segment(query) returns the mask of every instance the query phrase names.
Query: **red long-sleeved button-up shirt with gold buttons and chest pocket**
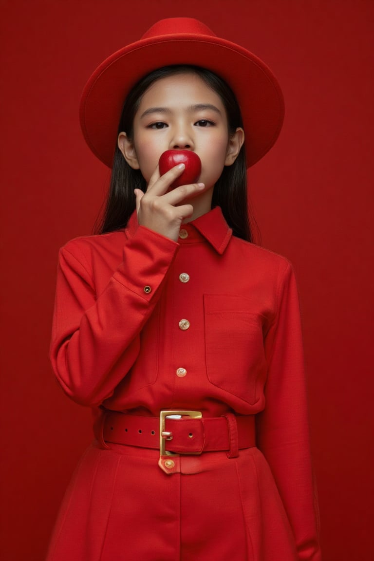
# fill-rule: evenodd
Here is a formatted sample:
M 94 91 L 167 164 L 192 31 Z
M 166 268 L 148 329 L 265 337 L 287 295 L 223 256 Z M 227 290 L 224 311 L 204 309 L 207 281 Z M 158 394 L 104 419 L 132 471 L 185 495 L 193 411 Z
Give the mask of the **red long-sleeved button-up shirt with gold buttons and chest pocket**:
M 292 266 L 232 236 L 219 208 L 182 226 L 178 243 L 136 214 L 126 229 L 67 243 L 51 356 L 64 391 L 87 406 L 256 413 L 297 544 L 316 544 Z

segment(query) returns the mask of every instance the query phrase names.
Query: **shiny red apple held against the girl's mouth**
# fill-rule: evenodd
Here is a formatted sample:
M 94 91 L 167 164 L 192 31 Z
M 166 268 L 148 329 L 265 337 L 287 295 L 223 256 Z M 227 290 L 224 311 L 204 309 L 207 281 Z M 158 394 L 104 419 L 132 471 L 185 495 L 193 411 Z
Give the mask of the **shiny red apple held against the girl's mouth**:
M 195 152 L 191 150 L 167 150 L 160 155 L 159 170 L 160 174 L 168 172 L 178 164 L 184 164 L 183 173 L 177 177 L 176 181 L 170 185 L 169 189 L 179 187 L 179 185 L 189 185 L 196 183 L 201 173 L 201 160 Z

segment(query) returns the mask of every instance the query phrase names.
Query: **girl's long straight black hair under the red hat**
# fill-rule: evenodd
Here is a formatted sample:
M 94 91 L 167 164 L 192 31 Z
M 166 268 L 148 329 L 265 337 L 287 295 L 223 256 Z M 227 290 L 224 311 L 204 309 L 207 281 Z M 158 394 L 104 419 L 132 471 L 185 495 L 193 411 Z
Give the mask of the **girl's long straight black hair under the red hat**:
M 137 82 L 124 102 L 118 134 L 123 131 L 130 140 L 133 139 L 133 121 L 136 111 L 142 96 L 153 82 L 167 76 L 188 72 L 199 76 L 209 88 L 220 96 L 227 113 L 229 135 L 233 135 L 237 127 L 243 127 L 236 96 L 224 80 L 205 68 L 176 65 L 158 68 Z M 132 169 L 128 165 L 116 145 L 109 192 L 103 213 L 95 225 L 96 233 L 112 232 L 127 226 L 128 219 L 136 206 L 135 188 L 146 191 L 144 177 L 139 169 Z M 224 167 L 214 186 L 211 206 L 212 208 L 221 207 L 228 225 L 233 229 L 234 236 L 252 241 L 250 209 L 247 200 L 246 156 L 243 146 L 236 161 L 232 165 Z

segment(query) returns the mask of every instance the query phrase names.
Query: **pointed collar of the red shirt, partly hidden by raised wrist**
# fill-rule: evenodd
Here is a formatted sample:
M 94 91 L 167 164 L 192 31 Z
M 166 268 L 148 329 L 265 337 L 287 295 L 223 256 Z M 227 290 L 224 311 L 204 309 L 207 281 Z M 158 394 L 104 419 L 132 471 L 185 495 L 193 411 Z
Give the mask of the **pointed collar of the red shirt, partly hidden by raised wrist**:
M 134 211 L 127 224 L 127 231 L 131 237 L 135 234 L 137 227 L 137 215 L 136 211 Z M 216 206 L 206 214 L 202 214 L 200 217 L 192 220 L 192 222 L 183 224 L 182 229 L 185 229 L 189 235 L 187 238 L 179 240 L 179 243 L 196 242 L 199 237 L 198 233 L 200 233 L 219 255 L 222 255 L 225 251 L 233 233 L 224 219 L 219 206 Z

